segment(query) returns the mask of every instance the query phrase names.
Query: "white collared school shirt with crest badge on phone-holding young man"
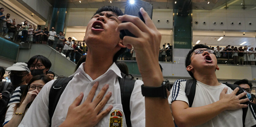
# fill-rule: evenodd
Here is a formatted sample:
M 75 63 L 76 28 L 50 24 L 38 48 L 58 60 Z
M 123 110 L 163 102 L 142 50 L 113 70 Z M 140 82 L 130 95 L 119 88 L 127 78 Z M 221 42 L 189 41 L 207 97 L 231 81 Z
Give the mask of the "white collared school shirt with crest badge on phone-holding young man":
M 84 72 L 84 64 L 85 62 L 82 63 L 77 71 L 72 75 L 74 76 L 73 79 L 67 84 L 65 90 L 59 98 L 59 102 L 52 117 L 52 127 L 58 127 L 62 122 L 64 122 L 67 116 L 68 107 L 73 103 L 81 91 L 84 93 L 81 104 L 86 100 L 92 86 L 96 81 L 99 82 L 99 85 L 95 92 L 94 98 L 105 84 L 109 84 L 109 88 L 105 95 L 108 93 L 108 91 L 112 92 L 112 96 L 109 98 L 109 101 L 105 104 L 101 111 L 107 109 L 109 105 L 113 105 L 113 108 L 109 114 L 103 117 L 97 123 L 97 125 L 95 125 L 95 127 L 109 127 L 111 120 L 110 117 L 112 117 L 111 115 L 113 112 L 114 115 L 120 115 L 120 113 L 122 114 L 122 127 L 126 127 L 127 125 L 125 122 L 125 116 L 123 115 L 120 86 L 118 82 L 118 77 L 122 76 L 117 65 L 113 63 L 107 72 L 99 76 L 97 79 L 92 80 L 92 78 Z M 36 96 L 35 100 L 29 107 L 29 110 L 27 111 L 26 115 L 21 121 L 21 124 L 18 127 L 49 126 L 48 97 L 53 82 L 54 80 L 44 85 L 43 89 Z M 145 127 L 145 100 L 141 94 L 142 84 L 143 82 L 141 80 L 136 80 L 130 99 L 132 127 Z

